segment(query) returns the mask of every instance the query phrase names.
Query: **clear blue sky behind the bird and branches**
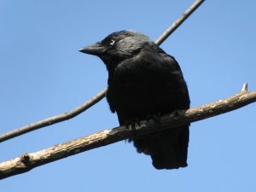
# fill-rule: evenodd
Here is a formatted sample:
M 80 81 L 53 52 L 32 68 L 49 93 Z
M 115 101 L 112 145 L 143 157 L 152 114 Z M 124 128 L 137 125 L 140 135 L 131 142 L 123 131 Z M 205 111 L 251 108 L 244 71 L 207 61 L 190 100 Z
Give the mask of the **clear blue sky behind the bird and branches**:
M 194 1 L 0 0 L 0 133 L 67 112 L 107 85 L 78 50 L 110 32 L 155 40 Z M 161 45 L 175 56 L 191 107 L 256 90 L 256 1 L 206 1 Z M 189 166 L 158 171 L 119 142 L 0 181 L 0 191 L 256 191 L 256 103 L 190 126 Z M 68 121 L 0 143 L 0 161 L 118 125 L 105 99 Z

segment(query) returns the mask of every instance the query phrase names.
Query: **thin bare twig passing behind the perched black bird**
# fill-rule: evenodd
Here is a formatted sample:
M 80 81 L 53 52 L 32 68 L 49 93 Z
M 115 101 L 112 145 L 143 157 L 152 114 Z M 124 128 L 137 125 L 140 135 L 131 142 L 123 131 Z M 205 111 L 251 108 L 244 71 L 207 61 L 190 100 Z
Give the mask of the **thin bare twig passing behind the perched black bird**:
M 160 38 L 158 38 L 155 42 L 155 44 L 162 44 L 166 38 L 168 38 L 172 32 L 174 32 L 178 26 L 180 26 L 184 20 L 186 20 L 189 15 L 191 15 L 195 9 L 197 9 L 201 3 L 203 3 L 204 0 L 196 0 L 195 3 L 193 3 L 188 10 L 186 10 L 183 15 L 181 15 L 173 24 L 172 26 L 170 26 L 166 32 L 164 32 Z M 30 125 L 25 125 L 25 126 L 21 126 L 20 128 L 17 128 L 13 131 L 9 131 L 7 133 L 4 133 L 3 135 L 0 135 L 0 143 L 13 138 L 13 137 L 18 137 L 22 134 L 25 134 L 26 132 L 29 131 L 34 131 L 37 130 L 39 128 L 45 127 L 45 126 L 49 126 L 49 125 L 53 125 L 55 123 L 59 123 L 61 121 L 67 120 L 67 119 L 71 119 L 75 116 L 77 116 L 79 113 L 83 113 L 86 109 L 90 108 L 91 106 L 95 105 L 97 102 L 101 101 L 102 98 L 105 96 L 107 88 L 105 88 L 104 90 L 102 90 L 100 93 L 98 93 L 96 96 L 93 96 L 89 101 L 84 102 L 81 106 L 79 106 L 78 108 L 73 109 L 70 112 L 67 113 L 61 113 L 59 115 L 55 115 L 53 117 L 49 117 L 46 119 L 42 119 L 39 120 L 38 122 L 32 123 Z

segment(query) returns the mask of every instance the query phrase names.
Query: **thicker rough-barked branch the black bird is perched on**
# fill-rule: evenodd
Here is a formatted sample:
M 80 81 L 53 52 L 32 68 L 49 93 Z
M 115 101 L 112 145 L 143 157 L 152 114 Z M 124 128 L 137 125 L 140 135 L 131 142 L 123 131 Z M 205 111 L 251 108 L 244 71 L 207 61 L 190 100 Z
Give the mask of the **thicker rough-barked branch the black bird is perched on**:
M 207 119 L 221 113 L 242 108 L 252 102 L 256 102 L 256 91 L 247 91 L 247 84 L 244 84 L 242 90 L 234 96 L 197 108 L 190 108 L 189 110 L 177 110 L 174 113 L 162 116 L 160 119 L 161 123 L 157 123 L 153 119 L 143 121 L 140 125 L 136 125 L 136 135 L 141 136 L 150 132 L 171 129 Z M 119 126 L 111 130 L 96 132 L 88 137 L 80 137 L 71 142 L 57 144 L 36 153 L 23 154 L 13 160 L 0 163 L 0 179 L 28 172 L 34 167 L 42 166 L 55 160 L 61 160 L 67 156 L 79 154 L 92 148 L 116 143 L 130 137 L 134 137 L 133 130 L 128 130 L 125 126 Z

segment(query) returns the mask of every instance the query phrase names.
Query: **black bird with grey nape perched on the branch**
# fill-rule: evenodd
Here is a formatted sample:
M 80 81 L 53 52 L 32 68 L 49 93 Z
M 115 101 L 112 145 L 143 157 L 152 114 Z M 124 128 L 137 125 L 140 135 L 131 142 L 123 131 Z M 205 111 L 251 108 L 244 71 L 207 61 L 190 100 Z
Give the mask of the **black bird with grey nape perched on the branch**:
M 189 108 L 189 91 L 177 61 L 142 33 L 113 32 L 80 51 L 105 63 L 106 96 L 119 125 Z M 151 155 L 156 169 L 187 166 L 189 125 L 132 140 L 138 153 Z

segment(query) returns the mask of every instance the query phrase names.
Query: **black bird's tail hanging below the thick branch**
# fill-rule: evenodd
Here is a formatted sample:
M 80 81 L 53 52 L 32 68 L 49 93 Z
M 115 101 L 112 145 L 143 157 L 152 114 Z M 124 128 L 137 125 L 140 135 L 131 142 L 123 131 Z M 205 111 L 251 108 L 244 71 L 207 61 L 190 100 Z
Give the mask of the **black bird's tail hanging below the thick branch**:
M 150 154 L 156 169 L 188 166 L 189 125 L 134 139 L 139 153 Z

